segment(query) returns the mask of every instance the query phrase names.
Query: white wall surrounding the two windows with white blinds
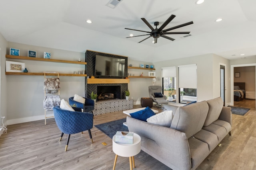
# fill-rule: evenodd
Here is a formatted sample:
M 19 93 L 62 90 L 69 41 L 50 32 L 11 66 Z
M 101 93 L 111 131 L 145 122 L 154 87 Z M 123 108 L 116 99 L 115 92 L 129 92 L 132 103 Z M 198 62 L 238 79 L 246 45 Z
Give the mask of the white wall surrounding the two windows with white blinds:
M 156 68 L 156 84 L 161 86 L 161 68 L 168 66 L 180 66 L 186 64 L 197 65 L 197 101 L 209 100 L 220 96 L 219 79 L 220 70 L 219 62 L 229 65 L 228 60 L 223 57 L 207 54 L 194 57 L 187 57 L 182 59 L 174 59 L 168 61 L 160 61 L 154 63 Z M 176 72 L 178 77 L 178 69 Z M 229 72 L 227 73 L 229 77 Z M 177 78 L 178 82 L 178 78 Z M 218 84 L 216 83 L 218 82 Z M 178 87 L 178 86 L 177 86 Z M 229 88 L 229 87 L 227 87 Z M 177 96 L 178 98 L 178 96 Z M 230 99 L 228 99 L 230 101 Z

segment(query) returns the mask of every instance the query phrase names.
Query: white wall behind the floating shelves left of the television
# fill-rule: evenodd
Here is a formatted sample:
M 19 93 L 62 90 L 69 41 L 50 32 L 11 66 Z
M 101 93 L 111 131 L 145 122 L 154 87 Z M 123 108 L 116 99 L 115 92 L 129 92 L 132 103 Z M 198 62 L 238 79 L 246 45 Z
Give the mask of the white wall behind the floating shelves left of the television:
M 43 58 L 43 53 L 46 51 L 52 53 L 52 59 L 77 61 L 78 58 L 81 58 L 82 61 L 85 61 L 84 53 L 9 42 L 7 54 L 9 54 L 10 47 L 20 49 L 21 56 L 27 56 L 28 50 L 32 50 L 37 52 L 38 58 Z M 2 57 L 5 59 L 5 55 Z M 60 73 L 72 74 L 74 71 L 85 70 L 85 66 L 80 64 L 16 59 L 7 60 L 26 63 L 26 68 L 29 72 L 59 71 Z M 3 64 L 1 64 L 1 66 L 3 66 Z M 60 98 L 68 101 L 68 98 L 74 96 L 74 94 L 84 96 L 84 80 L 84 77 L 60 76 Z M 8 108 L 6 116 L 8 119 L 7 123 L 15 124 L 44 119 L 44 76 L 6 75 L 6 81 L 6 92 L 8 94 L 6 98 L 6 106 Z M 48 111 L 47 113 L 53 114 L 52 111 Z

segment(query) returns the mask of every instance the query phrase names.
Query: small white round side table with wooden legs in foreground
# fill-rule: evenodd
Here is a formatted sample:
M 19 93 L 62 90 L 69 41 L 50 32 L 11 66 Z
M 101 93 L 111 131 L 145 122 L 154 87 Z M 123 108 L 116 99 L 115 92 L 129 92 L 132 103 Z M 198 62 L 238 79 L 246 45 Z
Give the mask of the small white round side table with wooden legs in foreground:
M 129 157 L 130 170 L 132 170 L 132 164 L 133 168 L 135 168 L 134 156 L 140 153 L 140 136 L 136 133 L 133 134 L 133 144 L 116 143 L 115 139 L 116 135 L 114 135 L 112 138 L 112 149 L 113 152 L 116 154 L 113 170 L 116 167 L 116 160 L 118 155 L 123 157 Z

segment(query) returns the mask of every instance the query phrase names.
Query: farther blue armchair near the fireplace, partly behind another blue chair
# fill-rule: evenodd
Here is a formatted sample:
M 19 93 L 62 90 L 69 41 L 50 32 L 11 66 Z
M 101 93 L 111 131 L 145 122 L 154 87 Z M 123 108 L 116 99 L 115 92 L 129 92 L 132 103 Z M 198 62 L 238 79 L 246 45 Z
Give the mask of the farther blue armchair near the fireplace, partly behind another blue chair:
M 85 98 L 85 103 L 74 101 L 74 97 L 69 98 L 70 106 L 79 107 L 84 109 L 84 112 L 92 112 L 94 110 L 94 100 Z

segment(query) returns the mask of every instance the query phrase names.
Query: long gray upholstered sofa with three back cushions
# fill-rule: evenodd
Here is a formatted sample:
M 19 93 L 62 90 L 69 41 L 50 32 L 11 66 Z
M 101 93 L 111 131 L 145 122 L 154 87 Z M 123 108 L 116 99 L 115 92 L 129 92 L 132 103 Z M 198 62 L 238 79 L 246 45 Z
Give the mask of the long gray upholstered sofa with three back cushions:
M 229 133 L 231 109 L 221 98 L 178 107 L 170 127 L 126 118 L 141 149 L 173 170 L 194 170 Z

